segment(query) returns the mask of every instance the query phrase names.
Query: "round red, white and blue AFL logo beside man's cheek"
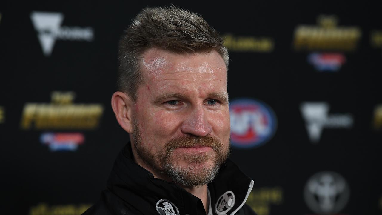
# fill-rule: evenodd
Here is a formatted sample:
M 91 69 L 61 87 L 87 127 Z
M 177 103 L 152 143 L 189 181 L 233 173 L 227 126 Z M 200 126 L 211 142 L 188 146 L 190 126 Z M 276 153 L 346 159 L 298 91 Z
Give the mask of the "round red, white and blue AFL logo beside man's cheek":
M 231 143 L 234 147 L 258 147 L 273 137 L 276 116 L 266 104 L 254 99 L 230 103 Z

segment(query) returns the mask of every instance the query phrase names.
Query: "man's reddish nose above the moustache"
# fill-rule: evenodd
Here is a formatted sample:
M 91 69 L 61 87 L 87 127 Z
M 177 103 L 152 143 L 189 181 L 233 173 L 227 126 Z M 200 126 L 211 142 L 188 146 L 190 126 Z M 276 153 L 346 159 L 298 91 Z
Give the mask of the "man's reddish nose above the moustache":
M 190 110 L 189 116 L 181 126 L 181 130 L 185 134 L 192 134 L 204 137 L 212 132 L 212 126 L 207 121 L 205 110 L 202 106 L 195 107 Z

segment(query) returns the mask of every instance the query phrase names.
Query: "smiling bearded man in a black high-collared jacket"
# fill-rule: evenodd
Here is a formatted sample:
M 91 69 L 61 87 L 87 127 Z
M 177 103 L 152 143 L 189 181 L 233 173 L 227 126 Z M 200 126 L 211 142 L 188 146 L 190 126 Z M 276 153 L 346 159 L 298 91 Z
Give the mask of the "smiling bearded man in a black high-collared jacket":
M 84 214 L 255 214 L 253 181 L 232 161 L 228 52 L 181 8 L 146 8 L 119 46 L 112 108 L 131 143 Z M 219 170 L 220 169 L 220 170 Z

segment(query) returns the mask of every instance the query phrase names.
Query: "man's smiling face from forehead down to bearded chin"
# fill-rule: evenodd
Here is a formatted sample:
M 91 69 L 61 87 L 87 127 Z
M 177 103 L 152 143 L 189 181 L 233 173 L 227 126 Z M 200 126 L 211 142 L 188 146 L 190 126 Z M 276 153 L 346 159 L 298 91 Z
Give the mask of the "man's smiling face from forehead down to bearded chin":
M 207 184 L 229 151 L 222 57 L 149 49 L 141 64 L 144 83 L 132 111 L 137 162 L 183 186 Z

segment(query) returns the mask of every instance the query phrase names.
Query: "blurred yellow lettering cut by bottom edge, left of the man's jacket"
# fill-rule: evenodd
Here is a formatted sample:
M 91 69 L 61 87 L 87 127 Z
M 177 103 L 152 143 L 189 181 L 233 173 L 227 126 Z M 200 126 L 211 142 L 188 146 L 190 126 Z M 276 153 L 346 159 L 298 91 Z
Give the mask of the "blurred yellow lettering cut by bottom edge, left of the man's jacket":
M 66 204 L 66 205 L 49 205 L 47 203 L 39 203 L 29 209 L 29 215 L 78 215 L 84 213 L 91 204 Z

